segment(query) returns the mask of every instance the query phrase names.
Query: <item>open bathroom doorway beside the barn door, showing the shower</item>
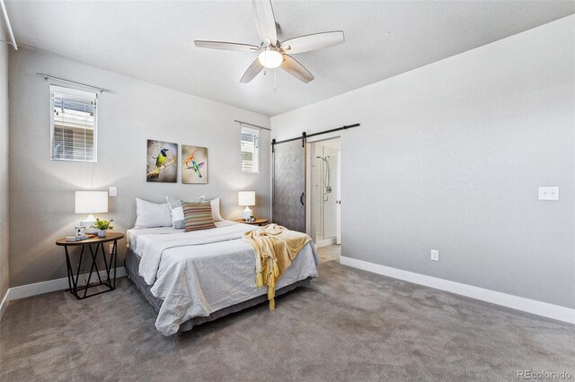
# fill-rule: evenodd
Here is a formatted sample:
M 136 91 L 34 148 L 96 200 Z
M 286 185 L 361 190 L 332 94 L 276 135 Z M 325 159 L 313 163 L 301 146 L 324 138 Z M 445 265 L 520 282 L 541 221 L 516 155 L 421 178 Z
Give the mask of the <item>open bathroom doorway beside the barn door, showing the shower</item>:
M 341 139 L 308 144 L 308 233 L 324 255 L 339 260 L 341 244 Z M 328 247 L 329 246 L 329 247 Z

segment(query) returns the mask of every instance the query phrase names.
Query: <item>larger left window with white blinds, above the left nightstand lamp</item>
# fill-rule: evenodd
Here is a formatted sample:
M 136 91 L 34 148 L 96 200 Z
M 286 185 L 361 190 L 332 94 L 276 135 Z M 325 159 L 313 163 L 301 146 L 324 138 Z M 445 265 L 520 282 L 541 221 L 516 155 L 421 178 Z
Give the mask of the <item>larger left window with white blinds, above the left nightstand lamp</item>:
M 98 96 L 50 85 L 50 158 L 52 161 L 96 161 Z

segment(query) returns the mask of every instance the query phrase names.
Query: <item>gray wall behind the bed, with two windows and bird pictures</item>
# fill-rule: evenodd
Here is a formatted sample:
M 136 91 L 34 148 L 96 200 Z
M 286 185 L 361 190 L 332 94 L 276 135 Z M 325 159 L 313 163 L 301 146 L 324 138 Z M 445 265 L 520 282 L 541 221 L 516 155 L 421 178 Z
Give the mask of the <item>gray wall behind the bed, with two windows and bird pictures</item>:
M 115 230 L 136 219 L 136 196 L 220 196 L 225 218 L 239 218 L 238 190 L 255 190 L 254 213 L 270 216 L 270 153 L 261 151 L 260 174 L 240 171 L 240 129 L 234 119 L 270 126 L 270 118 L 57 56 L 21 49 L 10 54 L 10 285 L 66 276 L 54 240 L 71 235 L 84 218 L 74 213 L 75 190 L 118 187 L 111 198 Z M 36 72 L 111 89 L 100 97 L 98 163 L 50 161 L 49 82 Z M 56 82 L 55 82 L 56 83 Z M 208 185 L 146 183 L 146 139 L 208 147 Z M 262 130 L 261 146 L 270 133 Z M 180 176 L 178 177 L 180 181 Z M 123 246 L 122 246 L 123 259 Z

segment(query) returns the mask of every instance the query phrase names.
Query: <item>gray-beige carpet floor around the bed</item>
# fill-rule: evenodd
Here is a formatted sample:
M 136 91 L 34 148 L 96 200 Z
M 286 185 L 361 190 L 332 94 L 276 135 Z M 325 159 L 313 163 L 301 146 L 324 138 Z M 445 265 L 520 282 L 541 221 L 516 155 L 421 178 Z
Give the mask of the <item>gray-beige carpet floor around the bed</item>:
M 163 337 L 128 280 L 75 300 L 12 301 L 0 324 L 0 380 L 575 379 L 575 326 L 358 271 L 326 248 L 320 278 L 267 304 Z

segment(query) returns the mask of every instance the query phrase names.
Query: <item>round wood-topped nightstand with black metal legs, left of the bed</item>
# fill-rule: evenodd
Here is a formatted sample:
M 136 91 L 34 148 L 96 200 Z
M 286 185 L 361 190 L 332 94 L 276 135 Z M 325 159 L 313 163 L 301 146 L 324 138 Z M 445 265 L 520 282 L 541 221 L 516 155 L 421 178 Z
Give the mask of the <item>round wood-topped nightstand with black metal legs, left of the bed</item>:
M 113 291 L 116 289 L 116 265 L 118 263 L 118 240 L 123 239 L 124 235 L 119 232 L 108 232 L 105 238 L 93 238 L 93 239 L 84 239 L 80 241 L 66 241 L 66 238 L 57 239 L 56 245 L 60 247 L 64 247 L 66 252 L 66 267 L 68 270 L 68 286 L 70 288 L 70 293 L 75 295 L 75 298 L 78 300 L 83 300 L 88 297 L 95 296 L 97 294 L 105 293 L 107 291 Z M 113 245 L 111 247 L 111 254 L 110 258 L 106 256 L 106 250 L 104 249 L 104 243 L 111 243 Z M 93 248 L 95 246 L 95 250 Z M 68 253 L 68 247 L 81 247 L 80 250 L 80 260 L 78 261 L 78 266 L 76 269 L 76 273 L 74 274 L 74 268 L 72 266 L 71 256 Z M 90 257 L 92 257 L 92 265 L 90 266 L 90 273 L 88 274 L 88 281 L 85 285 L 78 285 L 78 279 L 80 278 L 80 271 L 82 270 L 82 261 L 84 260 L 84 249 L 88 247 L 90 252 Z M 100 274 L 100 270 L 98 269 L 98 265 L 96 264 L 98 260 L 98 253 L 102 253 L 102 260 L 104 263 L 104 269 L 102 272 L 105 272 L 105 279 L 102 280 L 102 275 Z M 87 257 L 87 255 L 86 255 Z M 89 257 L 88 257 L 89 260 Z M 112 266 L 113 265 L 113 266 Z M 111 273 L 113 274 L 113 279 L 111 278 Z M 90 280 L 92 279 L 92 273 L 95 274 L 95 280 L 98 283 L 90 285 Z M 97 289 L 100 285 L 103 285 L 105 288 L 104 291 L 97 291 L 92 294 L 87 294 L 89 289 Z M 84 293 L 79 293 L 79 291 L 83 291 Z M 81 296 L 81 294 L 83 294 Z

